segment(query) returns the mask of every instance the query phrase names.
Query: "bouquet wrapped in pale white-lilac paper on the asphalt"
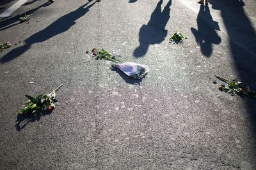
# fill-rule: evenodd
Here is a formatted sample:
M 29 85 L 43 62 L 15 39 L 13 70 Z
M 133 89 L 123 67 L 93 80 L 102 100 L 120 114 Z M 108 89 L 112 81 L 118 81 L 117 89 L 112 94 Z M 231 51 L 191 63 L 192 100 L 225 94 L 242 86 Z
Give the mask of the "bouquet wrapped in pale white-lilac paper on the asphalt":
M 112 67 L 116 67 L 123 71 L 127 76 L 131 76 L 136 80 L 145 77 L 148 73 L 148 66 L 142 64 L 136 64 L 133 62 L 125 62 L 123 64 L 112 64 Z

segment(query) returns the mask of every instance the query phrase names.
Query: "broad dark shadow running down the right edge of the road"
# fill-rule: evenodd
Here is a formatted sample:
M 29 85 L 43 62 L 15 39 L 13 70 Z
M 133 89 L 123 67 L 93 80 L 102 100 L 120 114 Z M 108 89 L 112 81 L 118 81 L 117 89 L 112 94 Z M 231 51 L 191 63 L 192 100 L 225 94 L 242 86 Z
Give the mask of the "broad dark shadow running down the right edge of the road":
M 221 17 L 227 29 L 230 53 L 239 73 L 237 80 L 244 85 L 256 89 L 256 34 L 253 26 L 244 13 L 242 0 L 209 1 L 212 8 L 221 11 Z M 249 4 L 250 5 L 250 4 Z M 256 140 L 256 100 L 244 97 L 248 106 L 248 114 L 252 118 L 254 138 Z

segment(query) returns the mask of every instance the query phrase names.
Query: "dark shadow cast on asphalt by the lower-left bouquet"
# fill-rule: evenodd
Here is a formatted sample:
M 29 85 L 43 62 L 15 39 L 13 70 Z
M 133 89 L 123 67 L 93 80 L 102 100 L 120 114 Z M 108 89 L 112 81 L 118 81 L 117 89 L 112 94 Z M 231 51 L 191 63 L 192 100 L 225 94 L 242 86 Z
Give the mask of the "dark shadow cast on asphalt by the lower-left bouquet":
M 33 113 L 18 113 L 17 115 L 17 124 L 15 125 L 17 131 L 21 131 L 21 129 L 25 128 L 29 122 L 38 122 L 41 117 L 45 115 L 50 115 L 52 111 L 44 111 L 42 113 L 33 114 Z M 22 125 L 21 125 L 22 124 Z

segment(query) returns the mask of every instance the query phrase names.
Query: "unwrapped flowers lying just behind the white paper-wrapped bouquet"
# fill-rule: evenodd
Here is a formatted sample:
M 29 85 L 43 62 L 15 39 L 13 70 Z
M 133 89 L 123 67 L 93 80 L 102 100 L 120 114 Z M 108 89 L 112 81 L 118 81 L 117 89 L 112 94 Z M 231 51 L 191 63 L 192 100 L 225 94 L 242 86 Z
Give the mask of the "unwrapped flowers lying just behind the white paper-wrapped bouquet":
M 109 53 L 104 49 L 97 50 L 96 48 L 92 48 L 92 53 L 93 56 L 96 57 L 96 59 L 106 59 L 106 60 L 111 60 L 113 62 L 120 62 L 120 60 L 116 59 L 116 54 L 115 53 Z M 117 55 L 120 57 L 120 55 Z

